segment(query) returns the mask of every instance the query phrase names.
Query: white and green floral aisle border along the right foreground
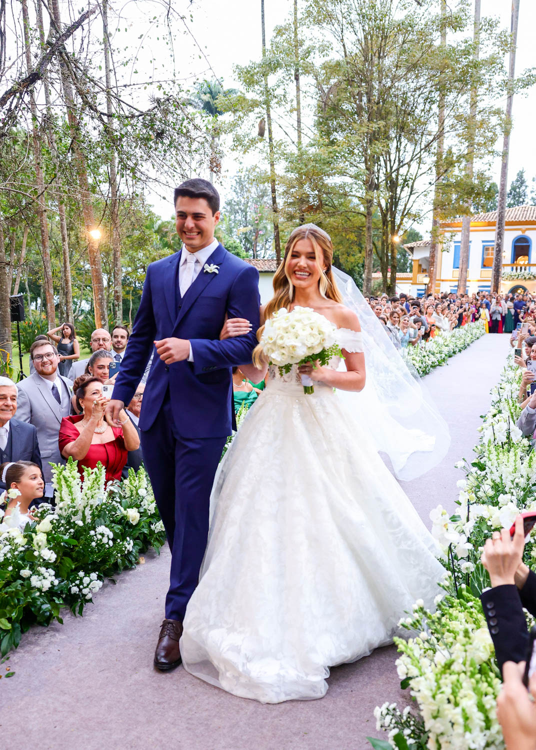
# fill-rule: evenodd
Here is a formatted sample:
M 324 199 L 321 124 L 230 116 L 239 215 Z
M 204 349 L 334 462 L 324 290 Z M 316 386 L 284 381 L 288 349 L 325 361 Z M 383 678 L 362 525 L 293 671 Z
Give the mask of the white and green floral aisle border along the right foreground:
M 431 613 L 424 602 L 400 621 L 409 640 L 395 638 L 401 687 L 409 688 L 418 714 L 396 703 L 376 707 L 376 728 L 388 740 L 370 740 L 373 748 L 403 750 L 484 750 L 504 748 L 496 718 L 501 684 L 499 668 L 479 595 L 490 585 L 480 562 L 484 541 L 495 529 L 511 526 L 521 511 L 536 510 L 536 452 L 516 427 L 521 371 L 511 355 L 492 389 L 492 404 L 479 428 L 472 461 L 456 466 L 459 511 L 449 517 L 439 505 L 430 513 L 433 535 L 448 573 L 445 594 Z M 525 547 L 524 562 L 536 567 L 536 530 Z

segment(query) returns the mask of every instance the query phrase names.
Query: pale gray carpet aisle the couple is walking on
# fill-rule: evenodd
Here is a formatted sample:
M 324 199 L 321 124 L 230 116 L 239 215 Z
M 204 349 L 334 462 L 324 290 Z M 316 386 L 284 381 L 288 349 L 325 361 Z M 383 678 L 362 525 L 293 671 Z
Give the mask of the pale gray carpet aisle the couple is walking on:
M 452 446 L 432 472 L 404 484 L 430 526 L 430 509 L 453 507 L 508 351 L 506 335 L 488 335 L 426 378 L 447 419 Z M 370 747 L 373 709 L 401 700 L 393 646 L 332 670 L 322 700 L 262 706 L 187 674 L 157 673 L 153 649 L 163 613 L 169 553 L 104 586 L 83 618 L 32 628 L 11 656 L 16 674 L 0 680 L 1 746 L 10 750 L 275 750 Z M 6 664 L 0 668 L 4 673 Z

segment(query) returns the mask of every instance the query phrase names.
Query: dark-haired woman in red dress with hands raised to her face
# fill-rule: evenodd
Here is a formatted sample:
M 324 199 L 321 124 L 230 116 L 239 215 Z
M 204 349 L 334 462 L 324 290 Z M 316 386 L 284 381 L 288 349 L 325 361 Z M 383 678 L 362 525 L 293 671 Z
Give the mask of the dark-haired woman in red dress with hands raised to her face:
M 82 414 L 61 420 L 58 437 L 61 455 L 78 461 L 82 478 L 84 466 L 94 469 L 100 461 L 106 469 L 106 481 L 120 479 L 127 453 L 139 448 L 136 428 L 124 410 L 119 415 L 121 427 L 110 427 L 104 422 L 109 399 L 103 397 L 103 386 L 97 377 L 77 377 L 73 392 Z

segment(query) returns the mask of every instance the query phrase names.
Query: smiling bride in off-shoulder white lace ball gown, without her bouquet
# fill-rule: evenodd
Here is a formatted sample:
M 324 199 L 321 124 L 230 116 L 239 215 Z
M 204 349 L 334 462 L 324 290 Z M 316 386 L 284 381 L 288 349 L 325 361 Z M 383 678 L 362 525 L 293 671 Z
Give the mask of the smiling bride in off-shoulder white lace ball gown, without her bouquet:
M 282 307 L 313 308 L 339 329 L 346 370 L 335 358 L 281 377 L 260 347 L 256 367 L 241 366 L 254 383 L 266 376 L 266 389 L 214 481 L 180 643 L 190 673 L 262 703 L 325 695 L 329 667 L 391 643 L 416 598 L 433 604 L 444 572 L 367 425 L 340 401 L 366 376 L 358 316 L 341 304 L 332 257 L 322 229 L 295 229 L 261 325 Z M 313 395 L 301 374 L 315 381 Z

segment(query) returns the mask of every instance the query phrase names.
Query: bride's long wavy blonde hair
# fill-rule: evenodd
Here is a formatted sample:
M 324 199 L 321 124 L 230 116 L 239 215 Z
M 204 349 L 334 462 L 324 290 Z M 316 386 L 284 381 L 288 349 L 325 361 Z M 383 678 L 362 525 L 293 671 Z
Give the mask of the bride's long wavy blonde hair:
M 343 298 L 337 289 L 331 264 L 333 263 L 333 245 L 331 237 L 324 229 L 316 224 L 302 224 L 292 231 L 285 245 L 285 255 L 277 271 L 274 274 L 274 296 L 265 307 L 265 321 L 271 318 L 281 308 L 288 308 L 294 300 L 294 284 L 289 273 L 289 262 L 296 242 L 308 239 L 315 251 L 316 266 L 320 272 L 319 292 L 325 299 L 333 299 L 334 302 L 342 302 Z M 324 267 L 325 266 L 325 270 Z M 257 341 L 261 340 L 265 327 L 261 326 L 257 331 Z M 258 344 L 253 350 L 253 365 L 262 367 L 262 347 Z

